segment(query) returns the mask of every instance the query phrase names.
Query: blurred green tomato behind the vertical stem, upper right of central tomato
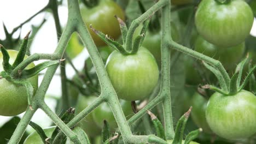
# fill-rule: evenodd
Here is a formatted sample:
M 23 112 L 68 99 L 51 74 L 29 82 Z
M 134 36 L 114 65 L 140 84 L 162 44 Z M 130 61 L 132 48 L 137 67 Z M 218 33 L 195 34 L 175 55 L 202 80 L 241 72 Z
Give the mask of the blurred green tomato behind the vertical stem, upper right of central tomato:
M 171 23 L 172 39 L 176 42 L 179 41 L 179 31 L 174 23 Z M 150 32 L 147 31 L 142 46 L 146 47 L 152 55 L 155 57 L 159 66 L 161 64 L 161 37 L 162 32 Z

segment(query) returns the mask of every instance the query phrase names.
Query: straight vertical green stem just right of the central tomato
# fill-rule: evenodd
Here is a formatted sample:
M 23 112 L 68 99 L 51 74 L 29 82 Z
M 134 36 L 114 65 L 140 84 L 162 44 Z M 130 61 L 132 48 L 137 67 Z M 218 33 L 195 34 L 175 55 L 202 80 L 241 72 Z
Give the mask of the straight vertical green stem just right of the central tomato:
M 163 99 L 164 122 L 166 139 L 171 140 L 174 137 L 174 129 L 172 122 L 172 104 L 171 104 L 171 85 L 170 85 L 170 69 L 171 69 L 171 50 L 168 49 L 168 40 L 171 40 L 171 2 L 166 0 L 168 5 L 162 8 L 162 41 L 161 41 L 161 89 L 160 94 Z

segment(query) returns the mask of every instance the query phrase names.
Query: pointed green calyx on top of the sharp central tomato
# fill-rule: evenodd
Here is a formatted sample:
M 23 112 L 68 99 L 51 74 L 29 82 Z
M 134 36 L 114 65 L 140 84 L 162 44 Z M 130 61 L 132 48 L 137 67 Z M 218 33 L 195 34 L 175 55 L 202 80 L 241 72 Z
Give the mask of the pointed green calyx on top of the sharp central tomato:
M 122 34 L 122 38 L 123 38 L 123 45 L 119 44 L 117 41 L 114 41 L 113 39 L 111 39 L 110 37 L 108 37 L 108 35 L 97 31 L 97 29 L 95 29 L 94 27 L 92 27 L 90 25 L 91 30 L 98 35 L 98 37 L 100 37 L 108 46 L 112 47 L 113 49 L 119 51 L 120 53 L 122 53 L 123 55 L 133 55 L 135 53 L 137 53 L 139 47 L 142 46 L 143 44 L 143 40 L 145 38 L 145 34 L 149 25 L 149 20 L 146 20 L 143 22 L 143 27 L 141 29 L 141 33 L 140 35 L 137 35 L 137 37 L 132 41 L 132 47 L 125 47 L 126 45 L 126 40 L 127 40 L 127 26 L 125 24 L 125 22 L 123 20 L 121 20 L 118 16 L 115 15 L 115 17 L 117 18 L 118 22 L 119 22 L 119 26 L 121 29 L 121 34 Z

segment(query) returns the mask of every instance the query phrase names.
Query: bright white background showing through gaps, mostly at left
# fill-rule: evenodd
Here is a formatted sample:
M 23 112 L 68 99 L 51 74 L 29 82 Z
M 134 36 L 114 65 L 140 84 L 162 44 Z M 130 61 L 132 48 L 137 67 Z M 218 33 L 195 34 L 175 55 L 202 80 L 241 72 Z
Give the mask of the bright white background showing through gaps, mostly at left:
M 42 9 L 48 1 L 34 1 L 34 0 L 0 0 L 0 39 L 5 39 L 5 34 L 3 31 L 3 23 L 7 26 L 9 32 L 13 30 L 16 26 L 20 25 L 20 23 L 27 20 L 30 16 L 37 13 L 40 9 Z M 59 8 L 59 16 L 62 27 L 65 26 L 67 20 L 67 4 L 64 1 L 64 5 Z M 55 30 L 55 24 L 53 16 L 50 13 L 41 13 L 38 16 L 34 17 L 30 22 L 22 27 L 21 38 L 23 38 L 28 31 L 31 30 L 31 25 L 38 25 L 42 22 L 43 18 L 46 17 L 47 21 L 44 23 L 43 27 L 39 30 L 36 37 L 33 40 L 31 45 L 31 53 L 53 53 L 57 46 L 57 35 Z M 20 31 L 15 33 L 15 37 L 18 37 Z M 252 28 L 252 35 L 256 36 L 256 23 L 254 22 L 254 26 Z M 84 59 L 88 57 L 88 53 L 86 49 L 82 53 L 79 54 L 75 59 L 73 59 L 73 63 L 78 69 L 82 69 Z M 38 64 L 39 62 L 35 62 Z M 44 73 L 44 71 L 42 72 Z M 56 74 L 59 74 L 59 69 Z M 67 77 L 71 78 L 74 75 L 74 71 L 70 65 L 67 65 Z M 39 77 L 39 82 L 42 80 L 42 76 Z M 60 97 L 61 95 L 61 83 L 60 77 L 54 76 L 53 81 L 51 81 L 51 85 L 46 93 L 46 104 L 48 104 L 51 109 L 54 110 L 56 106 L 56 101 L 49 97 L 49 95 L 54 95 L 55 97 Z M 0 89 L 1 91 L 1 89 Z M 23 114 L 19 115 L 22 117 Z M 11 117 L 3 117 L 0 116 L 0 127 L 5 122 L 7 122 Z M 36 122 L 42 127 L 48 127 L 51 124 L 51 120 L 42 110 L 38 110 L 36 114 L 32 118 L 33 122 Z M 28 130 L 31 131 L 32 128 L 28 127 Z

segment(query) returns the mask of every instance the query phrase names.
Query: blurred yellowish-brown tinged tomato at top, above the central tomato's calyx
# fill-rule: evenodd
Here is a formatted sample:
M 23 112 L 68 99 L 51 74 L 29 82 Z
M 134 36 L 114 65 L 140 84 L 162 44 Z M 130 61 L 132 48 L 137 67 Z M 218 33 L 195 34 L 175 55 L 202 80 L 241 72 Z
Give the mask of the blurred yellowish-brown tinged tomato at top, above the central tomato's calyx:
M 124 11 L 114 1 L 101 0 L 95 7 L 83 7 L 81 9 L 81 14 L 96 46 L 104 46 L 106 43 L 104 43 L 104 41 L 90 29 L 90 25 L 113 39 L 119 38 L 121 31 L 119 23 L 114 15 L 117 15 L 122 20 L 125 19 L 125 15 Z

